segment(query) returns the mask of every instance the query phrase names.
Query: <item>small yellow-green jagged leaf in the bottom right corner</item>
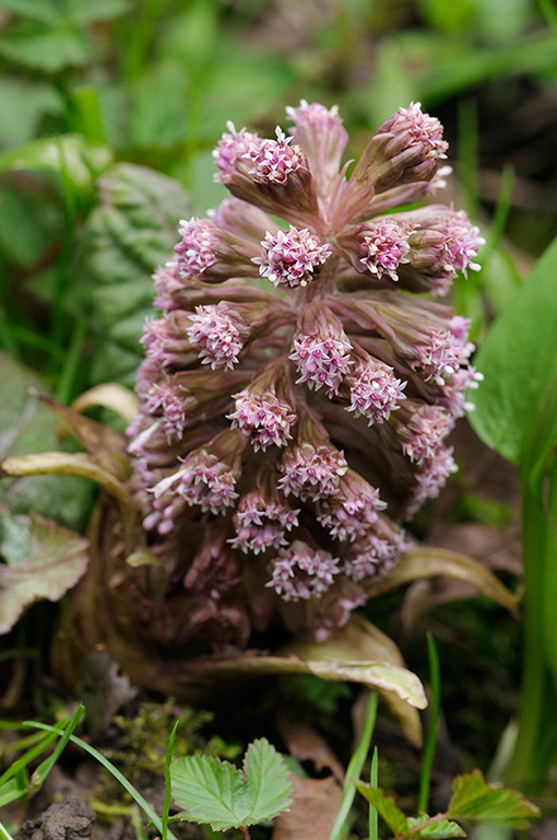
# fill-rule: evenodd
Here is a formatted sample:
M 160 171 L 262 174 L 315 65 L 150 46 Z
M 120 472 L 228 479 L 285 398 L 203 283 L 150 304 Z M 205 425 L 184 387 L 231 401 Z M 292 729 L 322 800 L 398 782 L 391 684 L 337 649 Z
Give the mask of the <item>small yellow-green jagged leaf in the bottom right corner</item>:
M 447 809 L 450 819 L 467 819 L 494 826 L 526 829 L 538 809 L 518 791 L 487 784 L 482 772 L 474 770 L 452 783 Z

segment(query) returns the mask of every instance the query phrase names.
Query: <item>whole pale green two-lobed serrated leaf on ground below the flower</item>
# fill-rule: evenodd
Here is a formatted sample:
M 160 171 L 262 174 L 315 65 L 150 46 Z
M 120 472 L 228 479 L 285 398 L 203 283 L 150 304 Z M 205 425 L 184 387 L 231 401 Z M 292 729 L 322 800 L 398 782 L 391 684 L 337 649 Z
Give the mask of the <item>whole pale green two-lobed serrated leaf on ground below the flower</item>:
M 175 819 L 208 822 L 218 831 L 272 819 L 291 803 L 287 768 L 265 738 L 248 747 L 244 772 L 212 756 L 188 756 L 173 761 L 170 779 L 185 809 Z

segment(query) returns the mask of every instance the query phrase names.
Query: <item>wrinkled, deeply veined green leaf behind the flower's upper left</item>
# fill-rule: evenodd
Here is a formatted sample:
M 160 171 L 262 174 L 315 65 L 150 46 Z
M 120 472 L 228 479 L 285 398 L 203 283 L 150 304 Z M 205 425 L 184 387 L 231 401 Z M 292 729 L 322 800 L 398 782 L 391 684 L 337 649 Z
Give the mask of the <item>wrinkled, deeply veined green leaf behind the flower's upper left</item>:
M 127 163 L 99 179 L 99 197 L 81 234 L 75 305 L 97 337 L 93 383 L 131 385 L 143 324 L 153 313 L 152 275 L 173 255 L 189 199 L 177 180 Z

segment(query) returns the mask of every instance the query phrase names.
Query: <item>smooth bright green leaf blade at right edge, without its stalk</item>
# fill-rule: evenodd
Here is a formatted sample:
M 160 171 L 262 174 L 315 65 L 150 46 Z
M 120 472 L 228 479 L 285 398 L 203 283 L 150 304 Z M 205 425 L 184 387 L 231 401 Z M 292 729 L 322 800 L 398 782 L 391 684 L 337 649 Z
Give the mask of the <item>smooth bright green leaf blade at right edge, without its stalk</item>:
M 487 444 L 518 464 L 532 433 L 557 439 L 557 240 L 495 322 L 475 364 L 485 382 L 471 422 Z

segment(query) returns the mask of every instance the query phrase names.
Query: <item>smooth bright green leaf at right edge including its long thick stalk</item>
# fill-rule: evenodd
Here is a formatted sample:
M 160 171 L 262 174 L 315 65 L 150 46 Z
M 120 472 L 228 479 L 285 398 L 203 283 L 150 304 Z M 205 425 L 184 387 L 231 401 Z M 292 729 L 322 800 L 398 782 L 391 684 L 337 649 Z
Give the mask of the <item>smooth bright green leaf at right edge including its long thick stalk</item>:
M 495 322 L 477 355 L 485 382 L 471 421 L 520 466 L 524 553 L 524 676 L 507 779 L 537 783 L 554 761 L 557 689 L 557 240 Z

